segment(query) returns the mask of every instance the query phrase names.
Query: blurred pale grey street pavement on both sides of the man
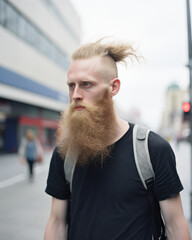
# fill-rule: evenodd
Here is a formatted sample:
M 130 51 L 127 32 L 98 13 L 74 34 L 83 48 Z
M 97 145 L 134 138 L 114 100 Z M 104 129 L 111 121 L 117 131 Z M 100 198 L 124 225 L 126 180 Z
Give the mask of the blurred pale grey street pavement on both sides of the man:
M 190 219 L 190 145 L 171 143 L 177 159 L 177 169 L 184 185 L 181 193 L 184 213 Z M 17 154 L 0 157 L 0 239 L 42 240 L 50 212 L 51 197 L 45 193 L 52 152 L 46 153 L 43 164 L 35 168 L 30 182 L 25 165 Z M 189 222 L 190 231 L 192 225 Z

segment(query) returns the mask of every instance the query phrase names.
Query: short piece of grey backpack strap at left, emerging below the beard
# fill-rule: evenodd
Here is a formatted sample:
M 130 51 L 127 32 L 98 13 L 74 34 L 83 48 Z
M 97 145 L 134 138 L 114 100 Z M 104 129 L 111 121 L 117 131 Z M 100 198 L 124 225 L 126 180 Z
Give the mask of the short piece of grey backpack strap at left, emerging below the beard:
M 65 179 L 70 184 L 71 192 L 72 192 L 73 173 L 75 170 L 76 161 L 77 161 L 77 157 L 70 155 L 69 151 L 67 151 L 65 161 L 64 161 L 64 172 L 65 172 Z

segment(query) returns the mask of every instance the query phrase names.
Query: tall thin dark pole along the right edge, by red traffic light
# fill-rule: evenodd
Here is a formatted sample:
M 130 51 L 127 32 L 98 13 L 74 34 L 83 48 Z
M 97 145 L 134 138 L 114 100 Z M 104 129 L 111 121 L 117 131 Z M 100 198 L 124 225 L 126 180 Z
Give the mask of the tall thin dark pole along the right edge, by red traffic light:
M 192 39 L 191 39 L 191 14 L 190 0 L 186 0 L 187 7 L 187 33 L 188 33 L 188 68 L 189 68 L 189 96 L 192 103 Z M 192 222 L 192 110 L 190 111 L 190 146 L 191 146 L 191 185 L 190 185 L 190 220 Z

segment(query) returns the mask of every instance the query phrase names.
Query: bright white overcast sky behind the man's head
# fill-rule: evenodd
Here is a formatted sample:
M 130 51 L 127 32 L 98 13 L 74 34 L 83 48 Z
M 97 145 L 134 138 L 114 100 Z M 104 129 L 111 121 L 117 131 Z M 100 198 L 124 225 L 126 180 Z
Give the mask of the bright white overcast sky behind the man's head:
M 157 130 L 167 87 L 188 86 L 185 0 L 71 0 L 82 19 L 82 42 L 113 36 L 134 43 L 142 63 L 119 66 L 122 81 L 115 98 L 128 115 L 138 109 L 142 121 Z

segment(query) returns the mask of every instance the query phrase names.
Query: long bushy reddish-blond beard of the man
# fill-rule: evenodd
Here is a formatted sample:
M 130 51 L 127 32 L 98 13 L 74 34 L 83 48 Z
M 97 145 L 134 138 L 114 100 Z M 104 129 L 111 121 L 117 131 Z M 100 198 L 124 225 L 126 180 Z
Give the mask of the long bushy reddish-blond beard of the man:
M 64 159 L 68 150 L 78 155 L 77 163 L 85 165 L 89 162 L 101 161 L 110 154 L 111 141 L 115 135 L 115 111 L 113 101 L 106 90 L 102 99 L 92 106 L 77 111 L 71 103 L 63 112 L 58 127 L 58 151 Z

